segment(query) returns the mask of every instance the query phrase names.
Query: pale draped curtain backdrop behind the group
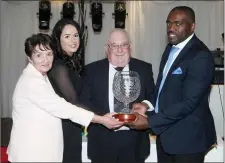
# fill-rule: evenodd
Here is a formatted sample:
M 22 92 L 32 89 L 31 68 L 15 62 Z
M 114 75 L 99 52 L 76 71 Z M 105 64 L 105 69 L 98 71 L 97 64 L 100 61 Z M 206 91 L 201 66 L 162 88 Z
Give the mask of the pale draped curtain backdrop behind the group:
M 159 62 L 166 40 L 166 18 L 178 5 L 187 5 L 196 13 L 196 35 L 211 49 L 222 45 L 224 31 L 223 1 L 127 1 L 126 30 L 132 42 L 132 55 L 152 63 L 156 80 Z M 60 19 L 63 1 L 51 1 L 50 31 Z M 75 3 L 76 4 L 76 3 Z M 114 28 L 114 3 L 103 2 L 103 29 L 95 34 L 89 16 L 90 3 L 85 4 L 88 42 L 85 64 L 105 58 L 104 44 Z M 38 29 L 38 1 L 1 1 L 1 52 L 0 52 L 0 107 L 1 117 L 11 117 L 12 93 L 16 82 L 27 64 L 24 41 Z M 75 5 L 75 20 L 79 10 Z

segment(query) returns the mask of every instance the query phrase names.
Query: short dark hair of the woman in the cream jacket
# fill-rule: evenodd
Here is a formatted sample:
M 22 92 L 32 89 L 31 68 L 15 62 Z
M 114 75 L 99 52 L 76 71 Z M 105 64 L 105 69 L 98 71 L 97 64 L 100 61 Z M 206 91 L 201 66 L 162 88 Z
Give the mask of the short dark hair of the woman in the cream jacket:
M 43 33 L 33 34 L 25 40 L 25 53 L 28 57 L 32 56 L 32 53 L 35 51 L 37 45 L 42 45 L 44 49 L 41 50 L 53 50 L 54 44 L 51 36 Z

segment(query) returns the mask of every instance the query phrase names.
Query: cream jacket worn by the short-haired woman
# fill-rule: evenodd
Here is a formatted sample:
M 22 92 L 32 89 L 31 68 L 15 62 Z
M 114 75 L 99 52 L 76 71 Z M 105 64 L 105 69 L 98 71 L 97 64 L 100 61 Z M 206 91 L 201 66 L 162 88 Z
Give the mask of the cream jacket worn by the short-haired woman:
M 28 64 L 13 93 L 10 162 L 62 162 L 62 119 L 88 126 L 94 114 L 66 102 L 47 76 Z M 76 139 L 76 138 L 74 138 Z

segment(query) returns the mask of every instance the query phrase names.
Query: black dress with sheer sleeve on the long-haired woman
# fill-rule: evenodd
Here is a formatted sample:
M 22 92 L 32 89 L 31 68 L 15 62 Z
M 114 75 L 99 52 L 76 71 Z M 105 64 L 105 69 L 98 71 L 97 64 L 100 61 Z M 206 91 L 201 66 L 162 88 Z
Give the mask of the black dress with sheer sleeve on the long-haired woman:
M 81 78 L 69 57 L 66 60 L 55 59 L 52 69 L 48 73 L 48 78 L 60 97 L 72 104 L 79 104 Z M 82 163 L 82 126 L 63 119 L 62 128 L 64 137 L 63 163 Z

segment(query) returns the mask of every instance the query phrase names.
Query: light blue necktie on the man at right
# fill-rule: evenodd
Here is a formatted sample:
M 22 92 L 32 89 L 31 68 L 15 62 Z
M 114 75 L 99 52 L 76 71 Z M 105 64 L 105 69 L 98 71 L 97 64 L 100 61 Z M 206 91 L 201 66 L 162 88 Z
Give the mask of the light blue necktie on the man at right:
M 169 54 L 169 57 L 168 57 L 168 60 L 166 62 L 166 65 L 164 67 L 164 70 L 163 70 L 163 77 L 162 77 L 162 80 L 161 80 L 161 83 L 160 83 L 160 86 L 159 86 L 159 91 L 158 91 L 158 96 L 157 96 L 157 100 L 156 100 L 156 105 L 155 105 L 155 112 L 158 113 L 158 104 L 159 104 L 159 94 L 162 90 L 162 87 L 163 87 L 163 84 L 166 80 L 166 76 L 167 76 L 167 73 L 171 67 L 171 65 L 173 64 L 173 57 L 174 57 L 174 54 L 179 50 L 178 47 L 175 47 L 173 46 L 170 50 L 170 54 Z

